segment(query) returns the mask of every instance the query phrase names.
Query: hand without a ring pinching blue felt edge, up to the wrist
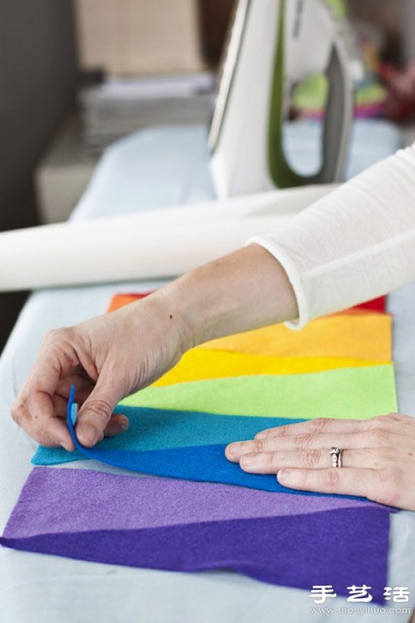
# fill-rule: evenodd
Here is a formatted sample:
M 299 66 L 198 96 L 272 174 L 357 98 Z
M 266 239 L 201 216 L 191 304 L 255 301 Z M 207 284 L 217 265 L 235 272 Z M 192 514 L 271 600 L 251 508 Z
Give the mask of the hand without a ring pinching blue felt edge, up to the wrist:
M 181 320 L 162 291 L 112 314 L 46 334 L 12 408 L 17 424 L 44 446 L 73 450 L 66 426 L 71 385 L 80 404 L 75 430 L 84 446 L 128 427 L 112 415 L 124 396 L 177 363 L 185 348 Z

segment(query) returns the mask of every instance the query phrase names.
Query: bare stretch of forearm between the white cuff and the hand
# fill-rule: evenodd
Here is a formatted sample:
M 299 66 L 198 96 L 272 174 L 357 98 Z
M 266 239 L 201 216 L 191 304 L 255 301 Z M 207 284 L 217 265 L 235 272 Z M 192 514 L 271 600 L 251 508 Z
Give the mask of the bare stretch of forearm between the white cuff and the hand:
M 298 315 L 286 271 L 257 244 L 187 273 L 158 296 L 181 332 L 183 350 Z

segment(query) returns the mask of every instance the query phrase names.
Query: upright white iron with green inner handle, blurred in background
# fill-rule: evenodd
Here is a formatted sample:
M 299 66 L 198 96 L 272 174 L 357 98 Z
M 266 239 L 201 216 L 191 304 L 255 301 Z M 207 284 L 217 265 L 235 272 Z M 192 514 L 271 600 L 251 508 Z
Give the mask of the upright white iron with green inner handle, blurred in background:
M 210 129 L 219 198 L 339 181 L 353 118 L 353 78 L 342 24 L 323 0 L 239 0 Z M 322 166 L 297 174 L 283 122 L 295 84 L 324 73 L 329 96 Z

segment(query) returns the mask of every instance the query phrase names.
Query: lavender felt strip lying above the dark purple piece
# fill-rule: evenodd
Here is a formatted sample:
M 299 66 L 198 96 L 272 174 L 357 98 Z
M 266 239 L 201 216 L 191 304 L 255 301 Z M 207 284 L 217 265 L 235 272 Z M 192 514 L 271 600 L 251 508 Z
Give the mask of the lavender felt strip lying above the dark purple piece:
M 21 490 L 4 536 L 134 530 L 358 507 L 378 505 L 330 496 L 276 495 L 209 482 L 37 467 Z M 389 510 L 380 508 L 382 512 Z

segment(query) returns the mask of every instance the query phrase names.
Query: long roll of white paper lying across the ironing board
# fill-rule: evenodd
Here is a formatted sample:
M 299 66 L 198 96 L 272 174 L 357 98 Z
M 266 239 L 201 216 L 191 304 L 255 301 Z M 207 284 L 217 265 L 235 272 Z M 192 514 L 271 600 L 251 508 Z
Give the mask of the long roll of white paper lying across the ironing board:
M 315 186 L 0 234 L 0 291 L 181 275 L 333 190 Z

